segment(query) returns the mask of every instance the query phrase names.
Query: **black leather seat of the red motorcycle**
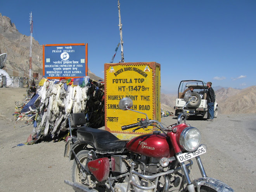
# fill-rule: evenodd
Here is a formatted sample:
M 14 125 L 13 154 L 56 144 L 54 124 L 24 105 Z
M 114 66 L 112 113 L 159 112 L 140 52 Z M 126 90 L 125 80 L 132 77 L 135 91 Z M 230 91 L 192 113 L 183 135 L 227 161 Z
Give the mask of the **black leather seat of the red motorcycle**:
M 106 130 L 99 130 L 83 126 L 77 130 L 77 138 L 80 141 L 86 141 L 96 150 L 104 151 L 102 153 L 119 152 L 125 149 L 126 140 L 120 140 L 112 133 Z

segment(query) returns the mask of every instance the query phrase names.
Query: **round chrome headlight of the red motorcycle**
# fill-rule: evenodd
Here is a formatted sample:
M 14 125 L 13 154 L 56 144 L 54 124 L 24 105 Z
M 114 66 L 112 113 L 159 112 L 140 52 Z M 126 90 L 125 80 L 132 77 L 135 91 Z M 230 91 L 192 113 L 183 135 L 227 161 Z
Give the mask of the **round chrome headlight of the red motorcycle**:
M 195 127 L 186 127 L 180 134 L 180 146 L 187 151 L 194 151 L 201 142 L 201 133 Z

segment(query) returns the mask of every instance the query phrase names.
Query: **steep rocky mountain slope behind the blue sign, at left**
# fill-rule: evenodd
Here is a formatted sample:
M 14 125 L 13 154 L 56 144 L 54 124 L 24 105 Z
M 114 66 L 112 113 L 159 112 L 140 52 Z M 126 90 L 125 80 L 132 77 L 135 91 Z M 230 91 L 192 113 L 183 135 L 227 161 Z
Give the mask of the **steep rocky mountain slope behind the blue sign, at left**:
M 9 17 L 0 13 L 0 54 L 7 53 L 7 60 L 3 70 L 29 71 L 30 36 L 22 35 Z M 32 71 L 43 74 L 43 45 L 34 38 L 32 40 Z M 88 76 L 93 80 L 104 80 L 88 69 Z

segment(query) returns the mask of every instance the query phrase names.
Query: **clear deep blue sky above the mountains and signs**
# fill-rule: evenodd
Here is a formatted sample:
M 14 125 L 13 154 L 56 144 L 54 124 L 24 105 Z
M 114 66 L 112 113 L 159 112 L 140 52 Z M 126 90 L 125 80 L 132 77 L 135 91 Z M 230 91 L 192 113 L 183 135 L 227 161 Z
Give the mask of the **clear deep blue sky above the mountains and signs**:
M 118 0 L 2 1 L 2 16 L 41 45 L 88 43 L 88 67 L 104 77 L 120 42 Z M 120 0 L 125 62 L 161 64 L 161 90 L 181 80 L 256 85 L 255 0 Z M 114 62 L 121 59 L 121 46 Z M 29 55 L 29 53 L 28 53 Z

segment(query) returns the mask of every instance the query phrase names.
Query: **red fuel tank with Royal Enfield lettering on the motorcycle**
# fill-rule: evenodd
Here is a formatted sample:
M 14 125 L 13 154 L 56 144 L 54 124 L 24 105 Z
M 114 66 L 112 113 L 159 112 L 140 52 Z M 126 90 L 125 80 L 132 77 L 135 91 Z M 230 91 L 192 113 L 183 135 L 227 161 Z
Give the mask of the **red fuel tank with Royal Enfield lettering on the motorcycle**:
M 126 149 L 148 157 L 161 158 L 175 155 L 168 136 L 164 134 L 147 134 L 133 138 L 126 144 Z

